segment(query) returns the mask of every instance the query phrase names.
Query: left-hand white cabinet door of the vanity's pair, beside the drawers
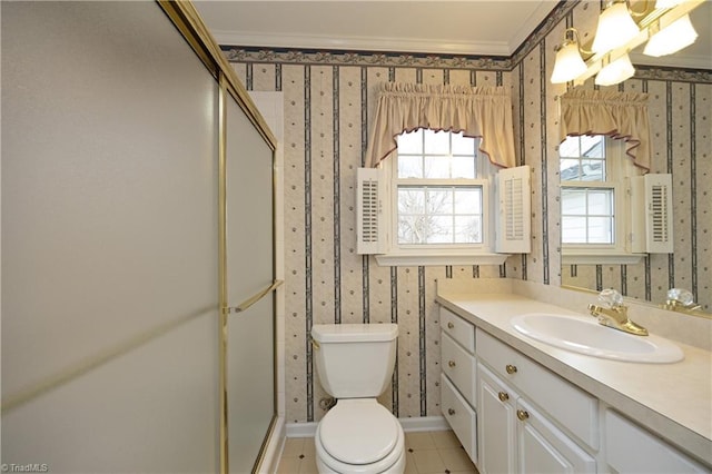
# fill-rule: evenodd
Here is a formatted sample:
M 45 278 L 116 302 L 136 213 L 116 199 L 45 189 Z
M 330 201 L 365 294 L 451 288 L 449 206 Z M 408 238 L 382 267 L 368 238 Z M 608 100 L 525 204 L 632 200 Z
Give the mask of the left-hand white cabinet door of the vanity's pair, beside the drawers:
M 513 473 L 516 466 L 516 394 L 484 365 L 478 364 L 477 374 L 477 468 L 483 474 Z

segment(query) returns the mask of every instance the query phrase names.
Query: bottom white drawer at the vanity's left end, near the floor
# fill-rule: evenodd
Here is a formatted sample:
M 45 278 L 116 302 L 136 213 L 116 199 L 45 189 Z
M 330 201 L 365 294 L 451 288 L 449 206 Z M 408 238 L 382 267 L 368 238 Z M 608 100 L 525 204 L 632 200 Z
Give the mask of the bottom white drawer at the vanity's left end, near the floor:
M 441 407 L 457 440 L 459 440 L 473 463 L 476 464 L 477 414 L 444 374 L 441 374 Z

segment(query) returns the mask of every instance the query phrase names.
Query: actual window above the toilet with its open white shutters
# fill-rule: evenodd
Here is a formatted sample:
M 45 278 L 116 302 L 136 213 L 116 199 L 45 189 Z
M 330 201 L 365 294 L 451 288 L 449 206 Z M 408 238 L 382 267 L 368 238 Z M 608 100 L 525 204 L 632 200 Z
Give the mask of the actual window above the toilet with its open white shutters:
M 368 176 L 358 189 L 365 208 L 359 209 L 359 254 L 379 254 L 382 265 L 503 263 L 507 255 L 495 254 L 498 172 L 481 156 L 479 140 L 462 132 L 417 129 L 397 141 L 397 155 L 382 169 L 359 169 L 362 178 Z M 510 204 L 530 197 L 522 186 L 528 186 L 528 167 L 522 168 L 526 169 L 514 168 L 517 185 L 503 186 L 501 198 L 507 204 L 501 214 L 506 227 L 502 234 L 525 243 L 526 249 L 501 251 L 528 251 L 528 200 L 527 206 Z

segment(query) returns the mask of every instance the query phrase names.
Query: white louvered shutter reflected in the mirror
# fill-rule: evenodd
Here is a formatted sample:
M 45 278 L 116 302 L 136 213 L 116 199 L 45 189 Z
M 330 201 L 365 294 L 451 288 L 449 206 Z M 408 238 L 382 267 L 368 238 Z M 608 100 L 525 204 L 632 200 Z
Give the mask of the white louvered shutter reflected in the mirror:
M 631 179 L 632 251 L 673 253 L 672 175 L 647 174 Z

